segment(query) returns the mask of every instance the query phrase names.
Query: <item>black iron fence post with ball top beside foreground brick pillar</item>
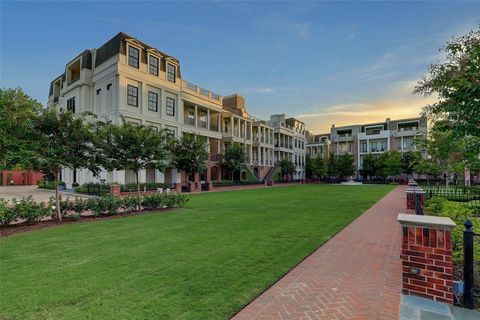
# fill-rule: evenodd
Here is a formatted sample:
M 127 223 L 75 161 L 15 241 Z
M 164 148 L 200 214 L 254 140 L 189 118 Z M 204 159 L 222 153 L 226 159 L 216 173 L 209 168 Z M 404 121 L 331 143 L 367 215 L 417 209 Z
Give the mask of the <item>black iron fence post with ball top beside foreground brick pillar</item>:
M 463 306 L 473 309 L 473 224 L 467 220 L 463 225 Z

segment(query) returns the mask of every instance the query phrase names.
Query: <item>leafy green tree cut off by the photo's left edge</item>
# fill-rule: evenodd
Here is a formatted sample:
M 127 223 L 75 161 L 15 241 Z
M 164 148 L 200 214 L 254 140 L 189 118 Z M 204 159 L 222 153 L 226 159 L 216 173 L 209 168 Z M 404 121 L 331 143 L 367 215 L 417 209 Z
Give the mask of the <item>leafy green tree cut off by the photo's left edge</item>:
M 0 89 L 0 170 L 32 166 L 33 119 L 42 109 L 20 88 Z

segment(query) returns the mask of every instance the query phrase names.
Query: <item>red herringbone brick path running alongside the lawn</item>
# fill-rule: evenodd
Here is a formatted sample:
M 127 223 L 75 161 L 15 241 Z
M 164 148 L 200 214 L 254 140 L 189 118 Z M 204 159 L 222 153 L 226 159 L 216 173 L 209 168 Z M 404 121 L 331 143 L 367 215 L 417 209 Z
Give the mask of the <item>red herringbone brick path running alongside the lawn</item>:
M 405 201 L 395 188 L 233 319 L 398 319 Z

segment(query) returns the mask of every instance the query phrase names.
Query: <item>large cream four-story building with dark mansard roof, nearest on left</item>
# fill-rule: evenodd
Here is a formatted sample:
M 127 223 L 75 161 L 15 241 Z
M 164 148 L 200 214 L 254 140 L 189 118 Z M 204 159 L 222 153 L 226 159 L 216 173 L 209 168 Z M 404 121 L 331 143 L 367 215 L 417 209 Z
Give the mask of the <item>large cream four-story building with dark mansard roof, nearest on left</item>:
M 185 81 L 178 59 L 125 33 L 67 63 L 50 85 L 48 105 L 74 113 L 90 111 L 113 123 L 123 119 L 150 125 L 166 129 L 172 136 L 202 136 L 209 145 L 208 170 L 195 180 L 220 177 L 222 97 Z M 105 171 L 96 178 L 86 170 L 64 169 L 62 179 L 67 185 L 99 180 L 129 183 L 134 182 L 134 174 Z M 141 182 L 179 183 L 185 179 L 175 169 L 140 173 Z

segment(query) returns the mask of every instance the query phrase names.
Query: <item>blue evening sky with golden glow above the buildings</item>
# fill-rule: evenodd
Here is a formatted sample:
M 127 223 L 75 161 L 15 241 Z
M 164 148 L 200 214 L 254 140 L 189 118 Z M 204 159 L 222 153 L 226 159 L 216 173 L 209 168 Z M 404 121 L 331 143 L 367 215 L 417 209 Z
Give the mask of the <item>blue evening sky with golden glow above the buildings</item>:
M 251 115 L 323 133 L 418 116 L 436 97 L 415 84 L 479 25 L 477 1 L 0 0 L 0 87 L 46 104 L 68 61 L 123 31 L 178 58 L 185 80 L 243 95 Z

